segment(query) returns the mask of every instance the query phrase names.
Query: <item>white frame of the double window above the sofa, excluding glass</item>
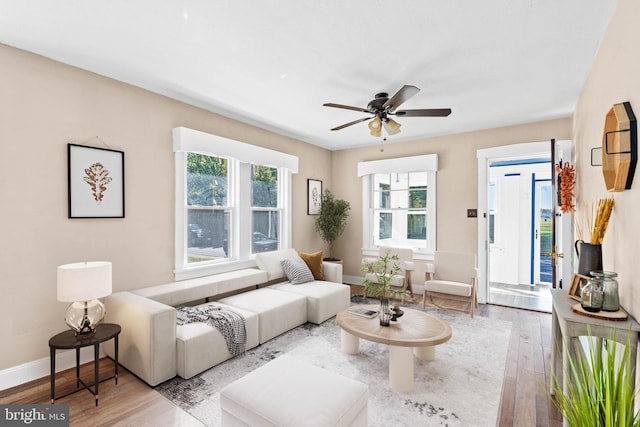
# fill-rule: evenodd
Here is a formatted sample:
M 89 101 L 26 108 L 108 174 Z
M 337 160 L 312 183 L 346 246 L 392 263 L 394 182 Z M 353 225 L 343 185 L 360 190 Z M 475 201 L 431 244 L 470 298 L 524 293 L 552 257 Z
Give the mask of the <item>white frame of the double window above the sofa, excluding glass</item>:
M 251 208 L 251 164 L 278 169 L 280 236 L 278 249 L 291 247 L 291 180 L 298 172 L 298 158 L 290 154 L 258 147 L 184 127 L 173 130 L 175 162 L 174 275 L 184 280 L 216 273 L 255 267 L 252 254 L 253 225 Z M 229 207 L 231 209 L 228 258 L 192 263 L 187 260 L 187 153 L 226 158 L 229 163 Z

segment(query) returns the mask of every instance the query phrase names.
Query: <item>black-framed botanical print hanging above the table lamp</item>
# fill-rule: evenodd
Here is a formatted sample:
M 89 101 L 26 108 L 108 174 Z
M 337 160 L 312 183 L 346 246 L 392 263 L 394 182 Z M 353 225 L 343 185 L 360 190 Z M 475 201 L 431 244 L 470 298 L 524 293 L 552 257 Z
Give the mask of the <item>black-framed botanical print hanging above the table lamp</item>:
M 124 218 L 124 152 L 67 144 L 69 218 Z

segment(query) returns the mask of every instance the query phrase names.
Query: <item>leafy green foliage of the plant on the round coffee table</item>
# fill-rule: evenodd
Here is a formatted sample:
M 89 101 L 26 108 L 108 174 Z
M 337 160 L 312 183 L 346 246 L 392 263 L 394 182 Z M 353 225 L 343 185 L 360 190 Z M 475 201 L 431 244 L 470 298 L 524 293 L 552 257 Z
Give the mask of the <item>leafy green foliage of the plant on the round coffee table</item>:
M 400 273 L 398 255 L 391 255 L 389 251 L 386 251 L 375 261 L 364 261 L 362 271 L 365 273 L 365 279 L 362 282 L 365 295 L 380 299 L 389 296 L 398 298 L 409 295 L 409 291 L 394 289 L 391 286 L 394 277 L 399 276 Z M 372 280 L 371 275 L 375 277 L 375 280 Z

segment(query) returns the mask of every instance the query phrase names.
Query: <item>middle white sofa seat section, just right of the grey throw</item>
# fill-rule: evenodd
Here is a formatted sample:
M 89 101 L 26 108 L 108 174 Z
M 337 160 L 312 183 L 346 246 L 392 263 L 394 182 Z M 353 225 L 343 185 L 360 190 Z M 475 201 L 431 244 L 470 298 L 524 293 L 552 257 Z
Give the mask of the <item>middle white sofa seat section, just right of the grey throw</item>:
M 261 288 L 218 302 L 256 313 L 260 344 L 307 322 L 307 298 L 291 292 Z

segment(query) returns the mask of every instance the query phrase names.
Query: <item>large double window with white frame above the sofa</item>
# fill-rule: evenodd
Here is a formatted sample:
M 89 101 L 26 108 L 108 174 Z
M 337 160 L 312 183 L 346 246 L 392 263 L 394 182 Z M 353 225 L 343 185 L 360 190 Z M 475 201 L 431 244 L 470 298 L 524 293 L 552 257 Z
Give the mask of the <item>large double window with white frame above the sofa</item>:
M 176 280 L 255 266 L 290 247 L 297 157 L 174 129 Z

